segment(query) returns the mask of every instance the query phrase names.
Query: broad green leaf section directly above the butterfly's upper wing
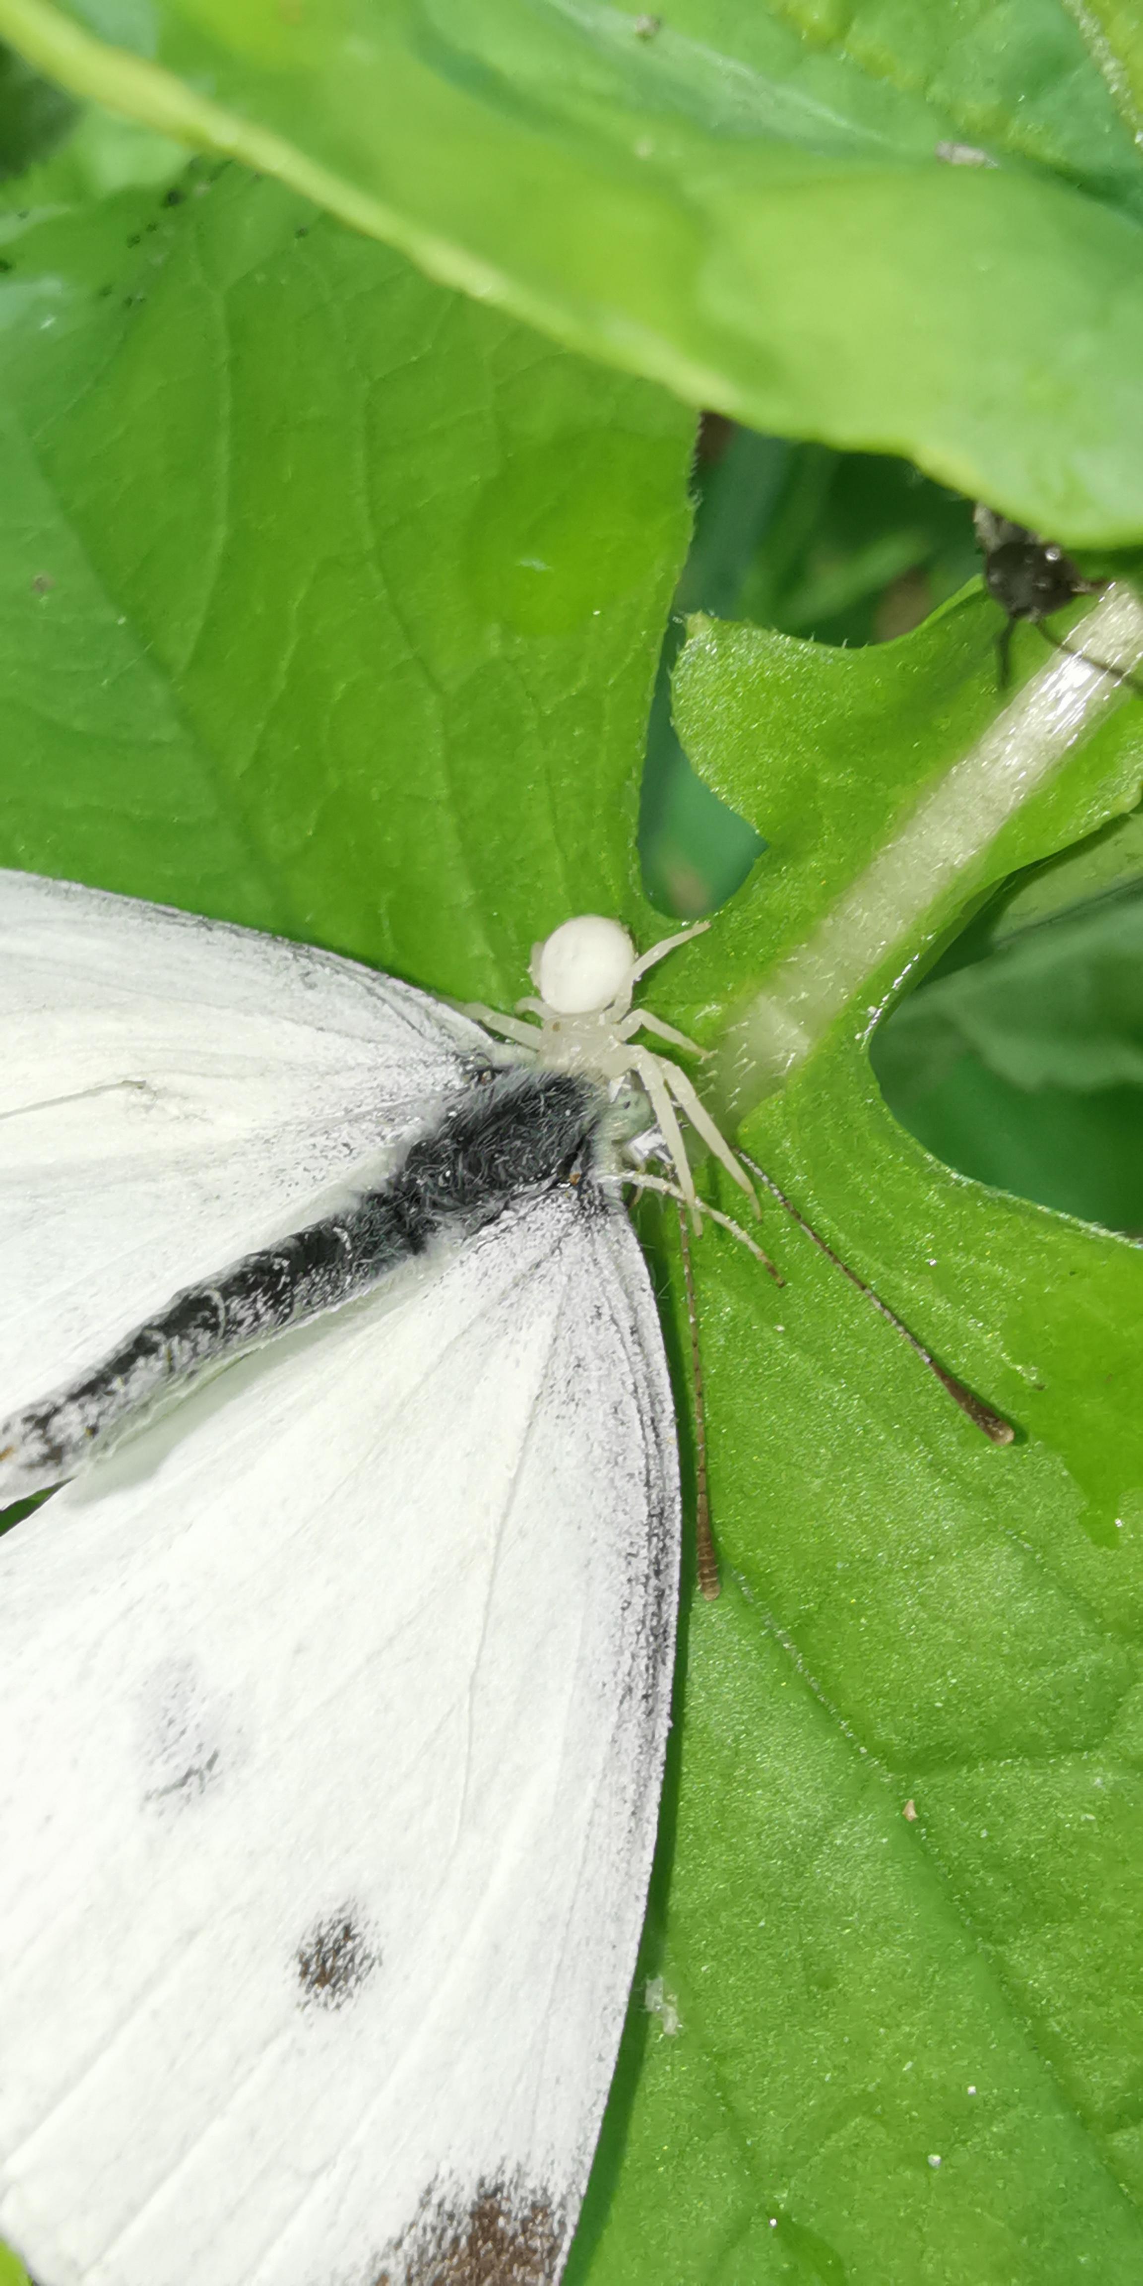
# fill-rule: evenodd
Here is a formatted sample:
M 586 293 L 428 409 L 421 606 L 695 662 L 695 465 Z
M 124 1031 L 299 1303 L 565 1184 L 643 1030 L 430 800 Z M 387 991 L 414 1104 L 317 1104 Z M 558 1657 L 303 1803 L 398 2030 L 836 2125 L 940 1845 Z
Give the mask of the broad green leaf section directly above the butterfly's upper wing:
M 0 229 L 7 862 L 505 1001 L 638 914 L 681 407 L 235 171 Z

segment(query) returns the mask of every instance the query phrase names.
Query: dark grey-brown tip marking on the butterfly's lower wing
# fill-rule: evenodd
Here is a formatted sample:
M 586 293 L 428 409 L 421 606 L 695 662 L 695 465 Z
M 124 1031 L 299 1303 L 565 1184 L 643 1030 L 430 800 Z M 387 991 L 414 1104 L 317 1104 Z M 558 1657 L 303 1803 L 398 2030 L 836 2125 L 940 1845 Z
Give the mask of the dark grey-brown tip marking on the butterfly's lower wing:
M 544 2190 L 482 2181 L 471 2204 L 427 2190 L 368 2286 L 551 2286 L 565 2245 Z

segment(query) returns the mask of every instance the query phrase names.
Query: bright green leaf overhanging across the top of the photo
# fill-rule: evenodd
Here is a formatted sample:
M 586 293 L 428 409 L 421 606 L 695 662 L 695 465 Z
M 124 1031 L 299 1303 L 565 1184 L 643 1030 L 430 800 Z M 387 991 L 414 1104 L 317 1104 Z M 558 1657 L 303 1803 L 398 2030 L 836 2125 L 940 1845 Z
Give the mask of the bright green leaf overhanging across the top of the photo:
M 1063 0 L 0 0 L 0 32 L 690 402 L 1143 535 L 1143 169 Z

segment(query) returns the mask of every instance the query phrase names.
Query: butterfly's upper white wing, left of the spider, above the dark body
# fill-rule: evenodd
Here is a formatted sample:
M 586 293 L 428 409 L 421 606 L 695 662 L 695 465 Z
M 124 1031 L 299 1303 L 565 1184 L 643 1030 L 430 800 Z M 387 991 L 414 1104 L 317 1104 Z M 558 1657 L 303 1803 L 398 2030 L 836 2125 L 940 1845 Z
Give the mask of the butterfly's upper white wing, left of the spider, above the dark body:
M 0 1413 L 279 1234 L 489 1052 L 336 953 L 27 873 L 0 871 Z

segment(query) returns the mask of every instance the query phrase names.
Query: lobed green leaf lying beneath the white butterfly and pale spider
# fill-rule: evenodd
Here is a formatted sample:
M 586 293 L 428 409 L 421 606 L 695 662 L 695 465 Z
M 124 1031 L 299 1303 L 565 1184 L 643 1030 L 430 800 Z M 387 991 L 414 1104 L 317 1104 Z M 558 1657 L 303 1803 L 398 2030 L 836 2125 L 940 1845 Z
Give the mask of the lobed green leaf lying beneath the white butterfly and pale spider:
M 647 942 L 686 418 L 272 183 L 183 190 L 5 222 L 5 862 L 501 1001 L 576 905 Z M 1143 1262 L 937 1168 L 864 1054 L 965 903 L 1138 791 L 1104 690 L 985 830 L 992 636 L 981 599 L 869 654 L 704 624 L 679 672 L 693 759 L 768 841 L 656 985 L 711 1038 L 967 789 L 962 862 L 748 1141 L 1022 1442 L 988 1447 L 793 1225 L 784 1292 L 704 1237 L 727 1591 L 684 1614 L 663 1989 L 636 1987 L 592 2286 L 1138 2279 Z

